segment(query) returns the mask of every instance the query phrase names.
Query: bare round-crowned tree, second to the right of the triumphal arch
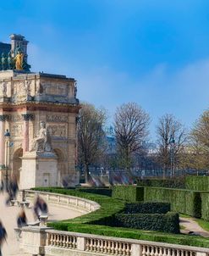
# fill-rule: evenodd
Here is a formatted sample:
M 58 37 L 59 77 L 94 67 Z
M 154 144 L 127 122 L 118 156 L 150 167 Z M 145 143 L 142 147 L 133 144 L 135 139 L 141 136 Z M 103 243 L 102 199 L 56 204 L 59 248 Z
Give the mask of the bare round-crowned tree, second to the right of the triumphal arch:
M 122 165 L 129 170 L 133 153 L 148 135 L 149 115 L 137 103 L 120 106 L 114 116 L 114 130 Z

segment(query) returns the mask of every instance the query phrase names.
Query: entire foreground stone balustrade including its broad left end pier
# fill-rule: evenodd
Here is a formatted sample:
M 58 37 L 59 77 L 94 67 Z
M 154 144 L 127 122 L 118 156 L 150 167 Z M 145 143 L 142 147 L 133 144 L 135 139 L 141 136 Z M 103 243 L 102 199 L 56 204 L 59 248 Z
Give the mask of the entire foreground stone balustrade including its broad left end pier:
M 46 230 L 39 228 L 39 231 L 38 227 L 25 227 L 22 232 L 23 252 L 35 255 L 38 255 L 35 252 L 41 252 L 46 256 L 209 256 L 209 248 L 55 231 L 47 227 Z M 39 248 L 37 241 L 40 242 Z

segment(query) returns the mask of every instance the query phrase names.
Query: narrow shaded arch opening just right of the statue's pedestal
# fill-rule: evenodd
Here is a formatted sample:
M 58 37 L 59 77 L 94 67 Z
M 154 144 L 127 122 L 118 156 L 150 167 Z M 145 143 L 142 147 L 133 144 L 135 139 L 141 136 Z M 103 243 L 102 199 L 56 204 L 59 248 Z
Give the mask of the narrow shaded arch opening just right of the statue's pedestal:
M 63 178 L 67 175 L 66 158 L 61 149 L 53 149 L 58 157 L 58 186 L 63 186 Z

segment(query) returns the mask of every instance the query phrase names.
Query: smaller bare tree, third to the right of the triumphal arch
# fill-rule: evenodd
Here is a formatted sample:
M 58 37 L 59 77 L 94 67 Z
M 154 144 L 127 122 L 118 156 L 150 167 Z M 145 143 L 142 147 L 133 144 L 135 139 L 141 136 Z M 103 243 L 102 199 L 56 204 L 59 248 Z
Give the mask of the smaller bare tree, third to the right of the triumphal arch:
M 163 177 L 178 163 L 178 154 L 184 149 L 187 136 L 184 126 L 173 114 L 163 115 L 157 125 L 158 161 L 162 165 Z

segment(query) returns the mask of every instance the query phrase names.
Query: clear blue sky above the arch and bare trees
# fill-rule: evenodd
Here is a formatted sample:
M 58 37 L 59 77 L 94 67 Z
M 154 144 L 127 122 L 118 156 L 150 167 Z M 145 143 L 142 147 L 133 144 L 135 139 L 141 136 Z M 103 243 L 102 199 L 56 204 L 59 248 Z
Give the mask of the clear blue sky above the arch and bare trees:
M 32 71 L 78 81 L 80 100 L 110 117 L 134 101 L 188 128 L 209 106 L 208 0 L 11 0 L 0 5 L 0 41 L 22 34 Z

